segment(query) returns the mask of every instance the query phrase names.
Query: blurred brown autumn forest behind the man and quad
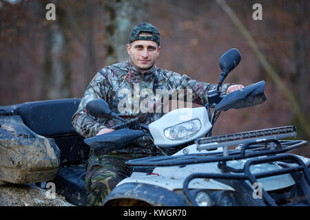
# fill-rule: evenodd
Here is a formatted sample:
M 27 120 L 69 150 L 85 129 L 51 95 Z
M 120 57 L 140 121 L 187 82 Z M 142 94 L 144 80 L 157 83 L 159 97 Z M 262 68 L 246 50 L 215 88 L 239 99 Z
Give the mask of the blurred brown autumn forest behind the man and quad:
M 55 5 L 55 20 L 46 5 Z M 262 19 L 254 19 L 259 3 Z M 310 140 L 306 0 L 0 0 L 0 105 L 81 98 L 96 72 L 128 59 L 137 23 L 161 32 L 156 66 L 218 82 L 220 56 L 241 62 L 225 83 L 266 81 L 267 101 L 220 115 L 214 135 L 294 124 Z M 256 14 L 257 15 L 257 14 Z M 302 148 L 296 153 L 310 156 Z

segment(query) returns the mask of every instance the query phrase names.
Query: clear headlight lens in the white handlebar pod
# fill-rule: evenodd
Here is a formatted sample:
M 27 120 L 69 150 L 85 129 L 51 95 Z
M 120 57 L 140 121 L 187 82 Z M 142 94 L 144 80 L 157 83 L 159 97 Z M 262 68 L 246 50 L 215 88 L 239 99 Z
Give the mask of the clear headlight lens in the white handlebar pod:
M 185 140 L 193 137 L 201 128 L 200 120 L 194 119 L 165 129 L 165 137 L 170 140 Z

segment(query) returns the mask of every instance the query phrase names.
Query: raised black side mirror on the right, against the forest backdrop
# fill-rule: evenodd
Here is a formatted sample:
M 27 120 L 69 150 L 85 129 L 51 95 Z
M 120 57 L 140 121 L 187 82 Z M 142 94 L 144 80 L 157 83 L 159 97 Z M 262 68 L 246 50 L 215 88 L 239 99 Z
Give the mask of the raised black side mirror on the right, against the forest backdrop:
M 240 52 L 233 48 L 220 57 L 220 69 L 222 69 L 222 73 L 220 74 L 220 80 L 218 80 L 218 88 L 220 89 L 220 85 L 222 85 L 226 76 L 233 70 L 240 62 L 241 55 Z

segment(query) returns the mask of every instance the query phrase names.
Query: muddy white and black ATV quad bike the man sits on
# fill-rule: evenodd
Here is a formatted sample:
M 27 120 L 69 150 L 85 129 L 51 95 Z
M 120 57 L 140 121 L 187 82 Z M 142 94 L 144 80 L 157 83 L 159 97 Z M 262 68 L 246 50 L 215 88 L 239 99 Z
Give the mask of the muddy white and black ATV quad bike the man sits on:
M 1 183 L 45 188 L 52 182 L 56 193 L 84 206 L 90 148 L 105 154 L 147 135 L 162 155 L 127 161 L 132 175 L 110 192 L 104 206 L 310 206 L 309 159 L 288 153 L 307 146 L 287 140 L 296 136 L 295 126 L 211 135 L 222 111 L 266 100 L 264 81 L 220 94 L 239 62 L 238 50 L 223 54 L 218 88 L 209 91 L 205 107 L 176 109 L 149 126 L 122 120 L 116 131 L 84 140 L 71 124 L 79 99 L 0 107 Z M 89 102 L 87 110 L 94 117 L 119 118 L 104 100 Z

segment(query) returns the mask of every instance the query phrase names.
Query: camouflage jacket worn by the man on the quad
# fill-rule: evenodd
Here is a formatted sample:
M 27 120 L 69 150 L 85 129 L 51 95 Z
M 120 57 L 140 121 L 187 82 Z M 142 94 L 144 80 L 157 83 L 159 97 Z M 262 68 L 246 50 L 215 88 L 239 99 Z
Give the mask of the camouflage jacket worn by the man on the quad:
M 223 84 L 220 91 L 225 92 L 229 85 L 231 84 Z M 110 109 L 125 120 L 136 117 L 140 123 L 149 124 L 167 113 L 167 102 L 163 102 L 165 94 L 168 94 L 166 97 L 169 97 L 169 100 L 173 100 L 176 97 L 174 94 L 181 89 L 183 94 L 178 94 L 178 100 L 183 98 L 187 102 L 204 105 L 207 103 L 207 91 L 216 89 L 216 85 L 200 83 L 185 74 L 180 76 L 156 66 L 141 74 L 130 61 L 107 66 L 101 69 L 88 85 L 79 108 L 72 116 L 72 124 L 83 137 L 94 137 L 101 129 L 112 128 L 121 123 L 114 118 L 96 118 L 87 114 L 87 102 L 100 98 L 106 100 Z M 187 91 L 192 95 L 189 98 Z M 152 103 L 155 109 L 151 107 Z M 139 138 L 136 144 L 116 153 L 151 153 L 147 148 L 151 144 L 147 138 Z

